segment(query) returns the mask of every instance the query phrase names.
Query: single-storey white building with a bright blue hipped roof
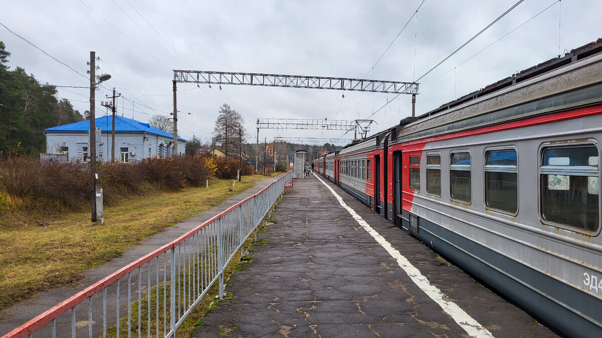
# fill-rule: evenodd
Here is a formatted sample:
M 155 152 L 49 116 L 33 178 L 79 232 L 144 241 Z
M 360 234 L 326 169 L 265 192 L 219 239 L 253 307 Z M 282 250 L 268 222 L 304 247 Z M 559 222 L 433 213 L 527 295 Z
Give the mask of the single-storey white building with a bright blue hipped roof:
M 112 116 L 99 117 L 96 123 L 96 158 L 111 161 Z M 90 120 L 45 129 L 46 153 L 42 158 L 63 154 L 67 161 L 86 161 L 90 149 Z M 186 140 L 178 138 L 178 154 L 186 150 Z M 64 156 L 66 155 L 66 156 Z M 173 156 L 173 135 L 148 123 L 131 118 L 115 117 L 116 161 L 140 161 L 148 157 Z

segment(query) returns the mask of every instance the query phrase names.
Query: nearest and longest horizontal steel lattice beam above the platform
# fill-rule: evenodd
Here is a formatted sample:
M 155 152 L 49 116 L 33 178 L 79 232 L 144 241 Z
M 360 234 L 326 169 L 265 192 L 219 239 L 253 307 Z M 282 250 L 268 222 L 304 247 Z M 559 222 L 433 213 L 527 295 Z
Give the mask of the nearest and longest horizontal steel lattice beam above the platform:
M 418 84 L 416 82 L 328 78 L 323 76 L 174 70 L 173 81 L 195 84 L 264 85 L 270 87 L 372 91 L 377 93 L 414 95 L 418 94 Z

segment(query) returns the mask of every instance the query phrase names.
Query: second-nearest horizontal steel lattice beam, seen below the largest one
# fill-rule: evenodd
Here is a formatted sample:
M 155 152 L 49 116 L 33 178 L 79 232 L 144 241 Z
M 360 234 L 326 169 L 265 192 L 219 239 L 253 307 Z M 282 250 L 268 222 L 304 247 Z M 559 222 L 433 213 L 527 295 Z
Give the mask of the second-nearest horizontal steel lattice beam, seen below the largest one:
M 355 121 L 309 120 L 306 118 L 258 118 L 257 128 L 265 129 L 320 129 L 324 131 L 355 131 Z

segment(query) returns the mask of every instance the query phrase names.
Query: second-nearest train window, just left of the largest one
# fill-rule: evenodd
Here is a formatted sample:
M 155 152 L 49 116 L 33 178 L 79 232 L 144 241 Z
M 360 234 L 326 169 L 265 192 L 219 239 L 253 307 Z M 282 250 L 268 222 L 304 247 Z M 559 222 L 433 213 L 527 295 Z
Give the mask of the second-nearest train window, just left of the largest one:
M 518 212 L 518 159 L 514 149 L 485 153 L 485 205 L 510 214 Z

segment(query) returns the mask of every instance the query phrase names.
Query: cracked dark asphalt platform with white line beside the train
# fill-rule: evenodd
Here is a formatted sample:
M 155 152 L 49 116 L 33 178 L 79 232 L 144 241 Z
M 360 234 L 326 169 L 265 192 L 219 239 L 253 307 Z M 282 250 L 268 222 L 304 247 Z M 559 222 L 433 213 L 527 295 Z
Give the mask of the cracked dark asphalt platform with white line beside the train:
M 272 215 L 192 336 L 556 337 L 323 177 Z

